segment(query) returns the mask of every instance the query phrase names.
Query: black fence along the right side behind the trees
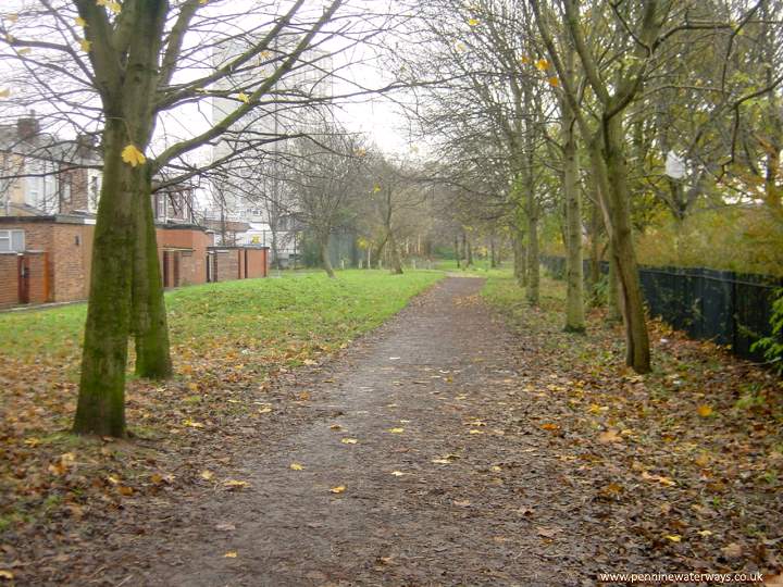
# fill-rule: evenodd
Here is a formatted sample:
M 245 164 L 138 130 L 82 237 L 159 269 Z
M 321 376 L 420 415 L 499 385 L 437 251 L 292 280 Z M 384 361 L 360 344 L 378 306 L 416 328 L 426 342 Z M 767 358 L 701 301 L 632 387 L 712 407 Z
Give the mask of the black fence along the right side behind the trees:
M 585 260 L 588 275 L 589 263 Z M 556 278 L 566 274 L 566 259 L 543 257 L 542 264 Z M 609 271 L 601 263 L 601 273 Z M 774 292 L 783 279 L 704 267 L 639 266 L 639 279 L 650 316 L 659 316 L 692 338 L 731 348 L 734 354 L 763 360 L 753 344 L 770 336 Z

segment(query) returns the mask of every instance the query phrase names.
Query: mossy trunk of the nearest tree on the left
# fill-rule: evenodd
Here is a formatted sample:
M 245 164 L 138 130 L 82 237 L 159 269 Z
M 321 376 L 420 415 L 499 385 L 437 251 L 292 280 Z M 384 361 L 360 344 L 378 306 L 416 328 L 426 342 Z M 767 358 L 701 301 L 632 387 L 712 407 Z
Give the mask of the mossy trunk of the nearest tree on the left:
M 98 204 L 82 375 L 73 430 L 125 436 L 125 365 L 130 328 L 134 197 L 140 172 L 122 161 L 128 143 L 121 118 L 103 130 L 103 185 Z

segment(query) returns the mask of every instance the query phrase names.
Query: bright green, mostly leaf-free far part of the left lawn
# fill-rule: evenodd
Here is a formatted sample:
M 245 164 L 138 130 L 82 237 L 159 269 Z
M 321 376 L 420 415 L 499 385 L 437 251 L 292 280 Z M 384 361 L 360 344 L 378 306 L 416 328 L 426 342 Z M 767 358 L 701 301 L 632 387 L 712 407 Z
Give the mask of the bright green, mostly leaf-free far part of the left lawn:
M 435 272 L 343 271 L 243 279 L 166 294 L 172 345 L 212 351 L 237 340 L 269 351 L 291 346 L 334 350 L 399 311 L 442 277 Z M 3 355 L 25 362 L 67 363 L 78 357 L 86 304 L 0 314 Z

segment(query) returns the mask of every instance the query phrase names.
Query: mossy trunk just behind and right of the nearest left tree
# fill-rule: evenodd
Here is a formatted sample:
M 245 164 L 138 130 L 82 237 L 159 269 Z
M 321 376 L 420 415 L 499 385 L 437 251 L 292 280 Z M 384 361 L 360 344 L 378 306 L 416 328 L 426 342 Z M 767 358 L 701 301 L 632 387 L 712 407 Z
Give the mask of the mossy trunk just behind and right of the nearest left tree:
M 136 374 L 150 379 L 172 376 L 163 283 L 158 237 L 151 202 L 149 167 L 142 172 L 142 185 L 136 195 L 136 242 L 133 275 L 133 330 L 136 340 Z

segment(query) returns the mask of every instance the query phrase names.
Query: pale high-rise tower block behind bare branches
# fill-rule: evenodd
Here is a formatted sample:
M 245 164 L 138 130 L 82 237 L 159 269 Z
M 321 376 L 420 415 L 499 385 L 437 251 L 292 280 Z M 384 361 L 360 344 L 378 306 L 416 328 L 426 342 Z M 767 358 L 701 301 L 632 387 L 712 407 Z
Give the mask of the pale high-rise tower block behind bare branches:
M 215 67 L 246 48 L 247 45 L 238 41 L 222 47 L 214 54 Z M 216 89 L 227 92 L 227 97 L 213 99 L 213 123 L 241 105 L 240 93 L 252 93 L 261 78 L 258 67 L 271 74 L 286 57 L 286 49 L 276 47 L 260 54 L 252 71 L 221 79 Z M 251 141 L 270 141 L 265 147 L 250 151 L 259 153 L 263 149 L 264 154 L 254 155 L 259 159 L 245 159 L 227 166 L 226 176 L 214 182 L 213 204 L 204 216 L 210 222 L 246 224 L 246 232 L 234 233 L 231 238 L 236 243 L 272 247 L 273 257 L 275 251 L 277 253 L 276 259 L 272 259 L 273 264 L 289 264 L 299 254 L 297 238 L 300 230 L 295 221 L 296 198 L 286 192 L 279 163 L 287 141 L 274 139 L 282 135 L 315 133 L 323 128 L 325 118 L 332 120 L 332 70 L 330 53 L 318 49 L 306 51 L 295 70 L 275 88 L 279 102 L 257 108 L 240 118 L 213 149 L 213 159 L 220 160 Z M 215 230 L 220 233 L 217 227 Z

